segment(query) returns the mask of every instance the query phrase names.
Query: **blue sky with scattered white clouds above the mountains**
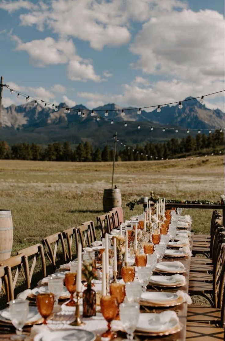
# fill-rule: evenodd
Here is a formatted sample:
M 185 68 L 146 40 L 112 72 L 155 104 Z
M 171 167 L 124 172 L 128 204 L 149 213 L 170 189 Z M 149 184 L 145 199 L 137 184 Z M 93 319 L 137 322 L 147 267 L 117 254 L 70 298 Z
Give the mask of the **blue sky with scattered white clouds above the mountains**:
M 223 0 L 0 0 L 0 74 L 69 107 L 145 107 L 224 89 Z M 3 105 L 24 103 L 4 88 Z M 224 111 L 224 93 L 205 98 Z

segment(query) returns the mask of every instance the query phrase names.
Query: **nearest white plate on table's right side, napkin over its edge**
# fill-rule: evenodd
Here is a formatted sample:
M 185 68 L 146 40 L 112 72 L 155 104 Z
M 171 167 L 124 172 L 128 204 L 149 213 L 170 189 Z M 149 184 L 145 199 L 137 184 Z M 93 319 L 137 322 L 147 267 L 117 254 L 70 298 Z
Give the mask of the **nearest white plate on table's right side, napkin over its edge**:
M 157 333 L 165 332 L 178 326 L 179 321 L 175 320 L 175 318 L 171 318 L 169 322 L 163 324 L 161 321 L 155 320 L 156 315 L 156 313 L 140 314 L 136 330 Z

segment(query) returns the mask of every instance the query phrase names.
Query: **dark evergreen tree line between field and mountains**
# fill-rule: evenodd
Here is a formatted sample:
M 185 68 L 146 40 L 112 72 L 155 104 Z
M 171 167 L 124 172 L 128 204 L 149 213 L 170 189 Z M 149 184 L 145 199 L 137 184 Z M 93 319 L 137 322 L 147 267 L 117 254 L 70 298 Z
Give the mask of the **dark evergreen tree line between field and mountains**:
M 224 132 L 216 130 L 209 135 L 197 134 L 196 137 L 188 135 L 182 139 L 172 138 L 165 143 L 150 142 L 136 147 L 126 145 L 125 148 L 117 151 L 116 160 L 160 160 L 201 154 L 205 150 L 219 154 L 221 149 L 224 150 Z M 69 142 L 50 143 L 47 147 L 35 143 L 18 143 L 10 147 L 7 142 L 0 141 L 0 159 L 97 162 L 113 161 L 113 158 L 113 148 L 105 145 L 103 149 L 100 147 L 94 149 L 89 142 L 80 143 L 74 149 Z

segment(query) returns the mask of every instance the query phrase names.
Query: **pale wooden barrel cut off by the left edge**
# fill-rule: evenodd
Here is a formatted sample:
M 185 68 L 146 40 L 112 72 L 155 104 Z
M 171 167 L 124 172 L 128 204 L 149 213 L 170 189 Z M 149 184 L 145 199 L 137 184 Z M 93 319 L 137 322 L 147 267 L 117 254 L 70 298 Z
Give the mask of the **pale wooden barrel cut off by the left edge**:
M 13 220 L 10 210 L 0 210 L 0 261 L 11 256 L 13 247 Z

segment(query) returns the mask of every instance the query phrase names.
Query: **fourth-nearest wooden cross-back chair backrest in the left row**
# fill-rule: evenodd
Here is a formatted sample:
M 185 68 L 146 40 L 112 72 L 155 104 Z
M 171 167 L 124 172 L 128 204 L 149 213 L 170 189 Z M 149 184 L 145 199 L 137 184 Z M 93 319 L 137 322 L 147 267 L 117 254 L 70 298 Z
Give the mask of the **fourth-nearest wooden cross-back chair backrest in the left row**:
M 66 250 L 62 232 L 57 232 L 42 239 L 42 243 L 53 269 L 56 268 L 56 265 L 66 263 Z

